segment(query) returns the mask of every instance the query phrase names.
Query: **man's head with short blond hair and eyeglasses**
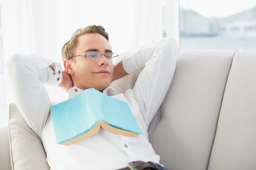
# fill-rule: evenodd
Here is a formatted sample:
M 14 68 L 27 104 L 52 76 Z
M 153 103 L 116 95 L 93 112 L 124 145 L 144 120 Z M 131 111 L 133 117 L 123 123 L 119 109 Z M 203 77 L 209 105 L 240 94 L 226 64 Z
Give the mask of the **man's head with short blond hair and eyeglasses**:
M 71 75 L 74 86 L 83 90 L 95 88 L 103 91 L 111 83 L 113 62 L 104 55 L 101 55 L 98 60 L 93 60 L 94 55 L 90 57 L 87 55 L 88 51 L 101 54 L 111 51 L 108 33 L 102 26 L 87 26 L 76 30 L 71 39 L 62 47 L 61 54 L 64 68 Z

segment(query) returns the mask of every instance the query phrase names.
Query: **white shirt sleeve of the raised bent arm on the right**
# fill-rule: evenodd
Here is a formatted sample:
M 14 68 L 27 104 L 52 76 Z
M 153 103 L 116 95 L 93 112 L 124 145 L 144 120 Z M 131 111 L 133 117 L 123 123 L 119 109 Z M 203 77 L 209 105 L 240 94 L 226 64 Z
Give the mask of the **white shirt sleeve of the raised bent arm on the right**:
M 130 74 L 141 71 L 133 89 L 134 99 L 147 126 L 154 118 L 171 85 L 179 53 L 177 43 L 170 37 L 144 45 L 122 60 Z

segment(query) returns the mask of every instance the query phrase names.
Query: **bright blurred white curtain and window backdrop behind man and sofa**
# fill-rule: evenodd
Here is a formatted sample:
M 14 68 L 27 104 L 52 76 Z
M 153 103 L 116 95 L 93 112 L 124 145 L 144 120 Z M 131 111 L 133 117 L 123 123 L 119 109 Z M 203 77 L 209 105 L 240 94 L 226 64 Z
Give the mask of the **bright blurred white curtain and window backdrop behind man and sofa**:
M 35 53 L 61 62 L 62 45 L 89 25 L 108 31 L 116 53 L 167 36 L 181 50 L 256 51 L 256 0 L 0 0 L 0 125 L 12 102 L 4 77 L 9 57 Z M 51 99 L 66 97 L 60 88 L 47 90 Z

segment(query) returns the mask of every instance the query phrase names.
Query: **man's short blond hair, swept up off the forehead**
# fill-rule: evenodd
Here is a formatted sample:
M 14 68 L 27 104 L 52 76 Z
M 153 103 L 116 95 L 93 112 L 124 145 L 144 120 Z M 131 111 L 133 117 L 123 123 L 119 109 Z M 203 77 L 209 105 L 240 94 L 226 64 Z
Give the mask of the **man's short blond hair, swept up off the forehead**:
M 70 40 L 63 45 L 61 49 L 62 61 L 64 61 L 64 59 L 69 59 L 71 56 L 75 55 L 76 46 L 78 45 L 78 38 L 84 34 L 100 34 L 108 40 L 108 33 L 102 26 L 93 25 L 87 26 L 85 28 L 80 28 L 76 30 L 72 34 Z M 75 57 L 71 59 L 75 61 Z

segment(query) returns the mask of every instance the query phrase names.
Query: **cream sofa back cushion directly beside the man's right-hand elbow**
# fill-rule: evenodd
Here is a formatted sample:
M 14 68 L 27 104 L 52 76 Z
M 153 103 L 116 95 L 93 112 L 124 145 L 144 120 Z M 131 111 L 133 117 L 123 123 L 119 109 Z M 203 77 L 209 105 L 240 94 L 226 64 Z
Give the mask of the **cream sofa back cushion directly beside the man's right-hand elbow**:
M 180 54 L 149 141 L 171 170 L 207 170 L 235 51 Z M 166 77 L 167 78 L 167 77 Z

